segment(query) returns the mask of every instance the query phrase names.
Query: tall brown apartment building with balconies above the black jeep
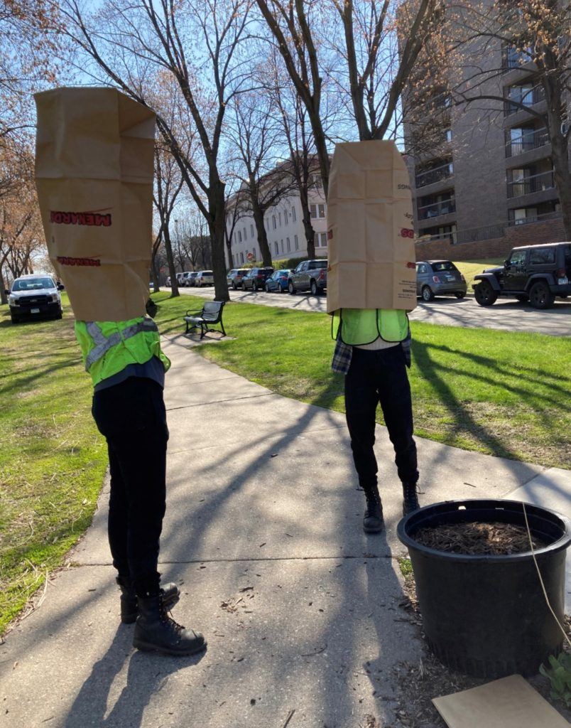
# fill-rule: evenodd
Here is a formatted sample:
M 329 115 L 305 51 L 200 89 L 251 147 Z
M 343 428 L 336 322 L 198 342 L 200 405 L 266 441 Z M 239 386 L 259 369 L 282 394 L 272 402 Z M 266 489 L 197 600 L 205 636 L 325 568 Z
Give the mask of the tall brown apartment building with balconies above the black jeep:
M 531 113 L 545 112 L 546 101 L 526 58 L 489 44 L 479 55 L 488 69 L 502 70 L 480 93 L 502 100 L 457 106 L 445 87 L 434 87 L 428 148 L 405 115 L 418 258 L 503 256 L 515 245 L 564 240 L 551 145 Z

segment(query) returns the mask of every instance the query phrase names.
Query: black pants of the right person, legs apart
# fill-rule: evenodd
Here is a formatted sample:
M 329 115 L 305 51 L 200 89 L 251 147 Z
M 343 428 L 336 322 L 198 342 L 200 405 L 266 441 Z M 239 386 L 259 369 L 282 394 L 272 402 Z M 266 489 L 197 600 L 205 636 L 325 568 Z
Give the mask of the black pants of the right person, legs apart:
M 402 347 L 370 351 L 354 347 L 345 377 L 345 407 L 359 485 L 377 486 L 375 412 L 380 403 L 403 483 L 418 480 L 416 445 L 412 439 L 412 400 Z

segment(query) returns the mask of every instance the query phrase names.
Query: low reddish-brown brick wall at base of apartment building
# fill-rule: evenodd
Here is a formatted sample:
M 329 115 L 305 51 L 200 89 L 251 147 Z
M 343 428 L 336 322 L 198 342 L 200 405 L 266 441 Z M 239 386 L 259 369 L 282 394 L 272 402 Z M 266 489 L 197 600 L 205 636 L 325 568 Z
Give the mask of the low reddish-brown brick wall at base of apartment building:
M 512 248 L 519 245 L 540 245 L 544 242 L 565 240 L 562 220 L 549 220 L 527 225 L 506 227 L 503 237 L 479 242 L 463 242 L 452 245 L 450 238 L 417 242 L 416 259 L 429 261 L 443 258 L 451 261 L 471 261 L 481 258 L 505 258 Z

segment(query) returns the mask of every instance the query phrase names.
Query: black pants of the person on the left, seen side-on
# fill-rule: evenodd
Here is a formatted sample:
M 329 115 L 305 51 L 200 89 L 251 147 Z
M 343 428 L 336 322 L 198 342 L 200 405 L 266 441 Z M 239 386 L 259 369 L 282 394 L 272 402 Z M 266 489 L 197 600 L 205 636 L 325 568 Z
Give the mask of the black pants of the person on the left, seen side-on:
M 130 377 L 95 392 L 92 414 L 108 445 L 113 566 L 137 594 L 155 593 L 169 439 L 162 389 L 152 379 Z

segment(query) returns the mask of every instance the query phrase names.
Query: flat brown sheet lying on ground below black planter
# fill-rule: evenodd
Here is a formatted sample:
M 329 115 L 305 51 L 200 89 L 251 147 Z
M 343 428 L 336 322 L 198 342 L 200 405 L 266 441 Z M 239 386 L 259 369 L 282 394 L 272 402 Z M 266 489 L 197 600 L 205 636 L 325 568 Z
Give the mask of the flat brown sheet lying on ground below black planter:
M 432 702 L 449 728 L 569 728 L 521 675 L 501 678 Z

